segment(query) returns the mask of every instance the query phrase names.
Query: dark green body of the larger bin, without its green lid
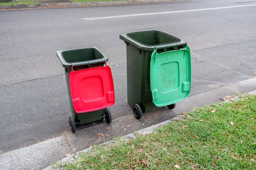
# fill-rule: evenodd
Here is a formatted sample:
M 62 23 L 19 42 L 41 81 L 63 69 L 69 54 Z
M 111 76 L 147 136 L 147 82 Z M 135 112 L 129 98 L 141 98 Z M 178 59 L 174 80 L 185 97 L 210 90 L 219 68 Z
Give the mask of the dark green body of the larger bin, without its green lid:
M 127 98 L 128 104 L 140 105 L 143 112 L 157 109 L 154 105 L 150 87 L 150 61 L 154 47 L 157 53 L 178 50 L 186 42 L 161 31 L 141 31 L 121 34 L 126 44 Z

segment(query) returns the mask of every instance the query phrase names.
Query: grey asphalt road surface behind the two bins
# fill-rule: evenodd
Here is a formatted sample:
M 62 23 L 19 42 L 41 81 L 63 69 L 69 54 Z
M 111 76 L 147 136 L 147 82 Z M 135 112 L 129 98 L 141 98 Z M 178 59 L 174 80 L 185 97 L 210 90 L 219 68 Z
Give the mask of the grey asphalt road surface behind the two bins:
M 126 97 L 122 33 L 157 29 L 187 41 L 192 51 L 191 96 L 252 78 L 256 6 L 241 6 L 256 0 L 238 1 L 0 11 L 0 153 L 70 133 L 67 87 L 56 51 L 96 46 L 109 57 L 116 92 L 112 119 L 133 115 Z M 227 6 L 240 7 L 191 11 Z M 83 20 L 163 11 L 183 12 Z M 170 116 L 157 122 L 177 114 L 166 112 Z

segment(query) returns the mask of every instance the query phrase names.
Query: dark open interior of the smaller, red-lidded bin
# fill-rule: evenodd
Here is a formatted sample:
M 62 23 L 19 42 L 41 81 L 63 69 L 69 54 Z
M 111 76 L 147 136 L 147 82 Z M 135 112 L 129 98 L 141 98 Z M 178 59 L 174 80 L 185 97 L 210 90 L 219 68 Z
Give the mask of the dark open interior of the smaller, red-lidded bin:
M 76 50 L 67 50 L 61 52 L 66 62 L 84 62 L 94 59 L 103 59 L 104 56 L 95 48 L 83 48 Z

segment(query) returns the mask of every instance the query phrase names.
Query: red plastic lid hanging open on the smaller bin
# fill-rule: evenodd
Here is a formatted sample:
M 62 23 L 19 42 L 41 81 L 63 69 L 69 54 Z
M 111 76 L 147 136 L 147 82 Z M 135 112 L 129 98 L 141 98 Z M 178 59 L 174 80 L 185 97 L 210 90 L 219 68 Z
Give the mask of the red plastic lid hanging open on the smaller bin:
M 76 113 L 107 108 L 114 104 L 115 94 L 111 68 L 88 68 L 70 72 L 70 92 Z

